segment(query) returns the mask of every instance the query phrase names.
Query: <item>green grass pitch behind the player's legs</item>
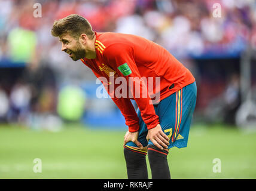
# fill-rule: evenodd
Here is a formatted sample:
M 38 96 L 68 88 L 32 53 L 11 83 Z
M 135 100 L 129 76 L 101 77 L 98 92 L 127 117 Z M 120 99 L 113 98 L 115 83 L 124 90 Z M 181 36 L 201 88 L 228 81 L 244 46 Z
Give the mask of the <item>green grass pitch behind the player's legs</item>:
M 127 178 L 125 130 L 93 130 L 69 125 L 62 131 L 33 131 L 0 125 L 0 178 Z M 256 133 L 193 125 L 188 147 L 170 149 L 172 178 L 256 178 Z M 33 172 L 33 160 L 42 172 Z M 221 160 L 214 172 L 213 160 Z M 147 159 L 148 164 L 148 159 Z M 148 164 L 148 173 L 151 172 Z

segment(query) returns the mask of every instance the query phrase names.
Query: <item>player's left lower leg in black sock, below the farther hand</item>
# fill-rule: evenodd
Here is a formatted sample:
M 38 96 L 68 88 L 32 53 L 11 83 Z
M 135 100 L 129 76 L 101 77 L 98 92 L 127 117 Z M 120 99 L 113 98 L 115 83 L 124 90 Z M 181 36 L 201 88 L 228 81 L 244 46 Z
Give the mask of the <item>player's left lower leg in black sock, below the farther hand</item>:
M 148 179 L 146 154 L 124 146 L 128 179 Z

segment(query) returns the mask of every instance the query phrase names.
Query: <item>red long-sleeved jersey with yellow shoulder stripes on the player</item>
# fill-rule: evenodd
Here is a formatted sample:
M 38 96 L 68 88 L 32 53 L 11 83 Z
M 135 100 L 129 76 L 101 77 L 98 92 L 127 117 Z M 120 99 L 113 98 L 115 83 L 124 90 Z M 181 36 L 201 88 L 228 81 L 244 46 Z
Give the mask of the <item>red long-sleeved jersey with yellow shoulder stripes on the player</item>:
M 148 130 L 156 127 L 160 123 L 153 104 L 150 104 L 152 97 L 159 94 L 157 101 L 163 100 L 186 85 L 192 84 L 195 81 L 193 75 L 166 49 L 145 38 L 112 32 L 95 32 L 95 34 L 96 58 L 83 58 L 81 61 L 92 69 L 97 78 L 107 79 L 107 82 L 100 81 L 109 94 L 111 94 L 111 75 L 115 79 L 118 77 L 126 79 L 127 96 L 114 95 L 111 98 L 121 110 L 130 132 L 139 130 L 139 119 L 130 98 L 136 101 Z M 128 83 L 131 77 L 148 79 L 148 82 L 151 78 L 153 83 L 148 84 L 148 88 L 145 89 L 147 85 L 138 81 Z M 156 79 L 159 79 L 159 83 Z M 116 88 L 118 84 L 115 83 L 112 89 Z M 135 96 L 134 91 L 138 88 L 141 91 L 139 96 Z M 129 92 L 133 93 L 133 97 L 130 97 L 130 94 L 128 96 Z

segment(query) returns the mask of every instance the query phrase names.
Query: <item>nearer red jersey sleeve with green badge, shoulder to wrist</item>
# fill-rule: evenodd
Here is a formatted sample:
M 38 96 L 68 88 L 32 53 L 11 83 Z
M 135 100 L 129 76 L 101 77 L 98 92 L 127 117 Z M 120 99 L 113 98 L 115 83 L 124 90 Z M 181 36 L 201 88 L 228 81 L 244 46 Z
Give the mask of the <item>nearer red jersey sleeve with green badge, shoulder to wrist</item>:
M 144 87 L 145 84 L 141 83 L 139 80 L 130 80 L 141 79 L 138 67 L 136 66 L 135 59 L 133 57 L 133 49 L 126 44 L 114 44 L 105 48 L 103 52 L 103 58 L 105 62 L 109 64 L 117 73 L 118 76 L 123 76 L 126 78 L 126 82 L 129 85 L 129 90 L 133 93 L 133 98 L 136 101 L 139 110 L 141 111 L 141 116 L 145 124 L 147 124 L 148 130 L 156 127 L 159 124 L 159 116 L 156 115 L 154 106 L 151 103 L 151 98 L 148 94 L 147 88 Z M 139 89 L 139 90 L 138 90 Z M 147 96 L 145 92 L 147 91 Z M 139 96 L 138 93 L 139 92 Z M 130 106 L 126 106 L 127 102 L 116 101 L 120 107 L 126 109 L 127 117 L 133 116 L 133 110 L 130 110 Z

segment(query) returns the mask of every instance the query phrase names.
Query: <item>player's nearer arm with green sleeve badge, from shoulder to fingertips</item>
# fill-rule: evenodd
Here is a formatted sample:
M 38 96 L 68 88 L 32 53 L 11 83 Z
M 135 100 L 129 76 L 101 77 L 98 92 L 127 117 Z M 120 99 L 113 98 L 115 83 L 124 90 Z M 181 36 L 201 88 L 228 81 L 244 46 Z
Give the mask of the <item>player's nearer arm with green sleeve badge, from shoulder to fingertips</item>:
M 156 115 L 153 104 L 150 104 L 151 98 L 148 94 L 147 88 L 143 88 L 144 84 L 143 82 L 141 83 L 141 81 L 135 80 L 130 83 L 130 77 L 141 78 L 133 57 L 132 47 L 123 44 L 112 45 L 107 47 L 103 54 L 106 63 L 116 70 L 119 76 L 126 78 L 126 81 L 128 82 L 127 84 L 129 84 L 129 89 L 133 91 L 133 98 L 141 110 L 142 119 L 145 124 L 147 124 L 150 140 L 153 141 L 159 149 L 163 149 L 163 147 L 167 148 L 169 138 L 161 130 L 159 125 L 159 116 Z M 140 94 L 139 97 L 136 97 L 134 95 L 136 95 L 136 90 L 138 91 L 136 88 L 138 87 L 140 89 Z M 141 90 L 147 91 L 147 97 L 143 97 Z

